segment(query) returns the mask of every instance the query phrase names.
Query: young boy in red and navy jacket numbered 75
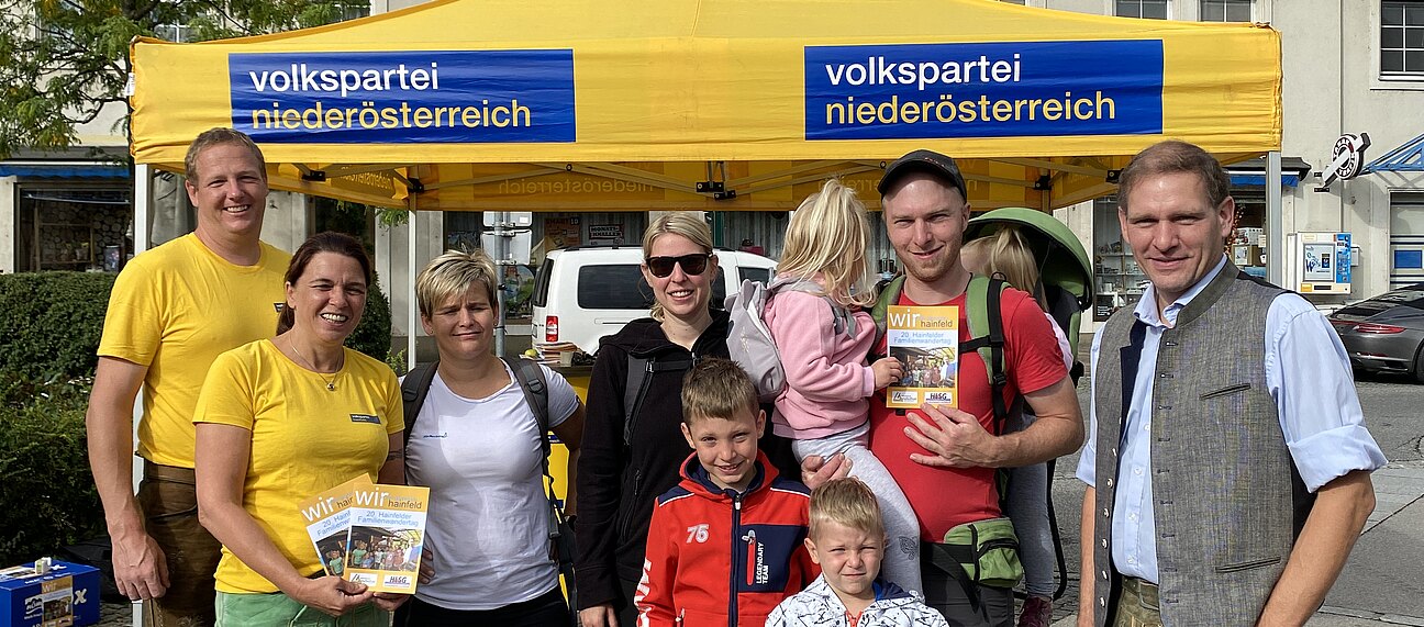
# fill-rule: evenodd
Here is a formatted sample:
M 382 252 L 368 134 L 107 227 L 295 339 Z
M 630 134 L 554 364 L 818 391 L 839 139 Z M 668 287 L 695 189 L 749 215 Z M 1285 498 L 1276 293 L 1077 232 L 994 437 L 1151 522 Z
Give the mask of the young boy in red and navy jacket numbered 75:
M 639 627 L 762 627 L 820 574 L 803 546 L 810 491 L 756 449 L 765 427 L 739 365 L 705 358 L 688 371 L 682 435 L 695 454 L 652 509 Z

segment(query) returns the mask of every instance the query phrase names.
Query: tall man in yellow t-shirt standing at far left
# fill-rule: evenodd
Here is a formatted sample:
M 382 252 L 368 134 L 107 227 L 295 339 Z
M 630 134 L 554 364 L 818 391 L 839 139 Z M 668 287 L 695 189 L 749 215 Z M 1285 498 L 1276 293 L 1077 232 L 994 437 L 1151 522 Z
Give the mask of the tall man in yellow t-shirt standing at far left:
M 214 128 L 188 149 L 194 233 L 124 267 L 110 296 L 87 414 L 90 468 L 112 540 L 118 590 L 145 624 L 214 624 L 221 545 L 198 523 L 194 407 L 212 361 L 276 331 L 290 254 L 259 240 L 266 162 L 242 132 Z M 132 491 L 134 400 L 144 390 Z

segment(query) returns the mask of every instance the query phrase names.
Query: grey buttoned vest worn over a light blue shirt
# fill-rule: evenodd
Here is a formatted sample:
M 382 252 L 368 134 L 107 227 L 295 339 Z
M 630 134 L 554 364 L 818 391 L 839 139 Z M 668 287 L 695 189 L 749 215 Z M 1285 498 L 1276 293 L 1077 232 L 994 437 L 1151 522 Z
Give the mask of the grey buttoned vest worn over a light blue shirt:
M 1265 373 L 1266 311 L 1280 293 L 1227 262 L 1161 337 L 1149 438 L 1165 624 L 1255 624 L 1290 556 L 1299 478 Z M 1111 518 L 1135 321 L 1128 309 L 1108 320 L 1092 373 L 1096 520 L 1085 576 L 1095 579 L 1096 626 L 1121 590 Z

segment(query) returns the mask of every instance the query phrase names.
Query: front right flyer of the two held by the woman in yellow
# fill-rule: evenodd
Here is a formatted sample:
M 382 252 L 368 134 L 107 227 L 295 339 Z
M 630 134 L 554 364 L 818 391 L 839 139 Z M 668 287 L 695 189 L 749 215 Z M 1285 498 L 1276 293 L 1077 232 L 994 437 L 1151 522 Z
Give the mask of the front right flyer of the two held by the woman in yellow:
M 430 488 L 367 485 L 355 491 L 346 574 L 373 591 L 414 593 Z

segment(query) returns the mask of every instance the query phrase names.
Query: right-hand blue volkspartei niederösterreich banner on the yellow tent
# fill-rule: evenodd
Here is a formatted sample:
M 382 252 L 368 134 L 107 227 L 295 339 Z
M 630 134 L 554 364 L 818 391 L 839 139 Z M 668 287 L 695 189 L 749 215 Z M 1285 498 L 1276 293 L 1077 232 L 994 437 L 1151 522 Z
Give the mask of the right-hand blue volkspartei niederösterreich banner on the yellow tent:
M 1162 132 L 1162 41 L 810 45 L 806 139 Z

